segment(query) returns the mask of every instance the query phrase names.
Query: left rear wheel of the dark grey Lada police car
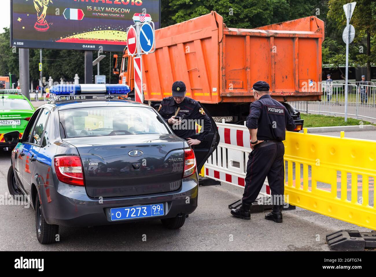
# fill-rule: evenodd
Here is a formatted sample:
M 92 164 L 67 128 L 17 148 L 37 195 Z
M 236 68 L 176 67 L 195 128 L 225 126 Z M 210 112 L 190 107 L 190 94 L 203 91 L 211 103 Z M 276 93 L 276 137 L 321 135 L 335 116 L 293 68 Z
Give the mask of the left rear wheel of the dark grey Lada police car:
M 36 237 L 40 243 L 47 244 L 56 241 L 56 235 L 59 233 L 59 225 L 48 224 L 45 221 L 39 194 L 36 195 L 35 199 L 35 226 Z

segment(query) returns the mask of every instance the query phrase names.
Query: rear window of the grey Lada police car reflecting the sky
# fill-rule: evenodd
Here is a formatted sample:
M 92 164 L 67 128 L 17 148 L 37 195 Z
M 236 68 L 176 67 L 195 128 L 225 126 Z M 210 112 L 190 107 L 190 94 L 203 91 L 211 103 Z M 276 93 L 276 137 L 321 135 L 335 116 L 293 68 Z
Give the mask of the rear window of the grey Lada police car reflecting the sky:
M 59 111 L 62 138 L 168 134 L 153 109 L 91 107 Z

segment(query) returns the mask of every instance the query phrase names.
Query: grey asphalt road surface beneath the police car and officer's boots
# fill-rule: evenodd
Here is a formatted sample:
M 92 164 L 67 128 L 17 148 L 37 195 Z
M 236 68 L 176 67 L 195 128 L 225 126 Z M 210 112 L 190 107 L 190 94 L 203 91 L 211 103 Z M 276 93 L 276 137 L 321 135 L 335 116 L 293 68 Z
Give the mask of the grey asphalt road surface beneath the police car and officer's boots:
M 0 153 L 0 194 L 8 194 L 9 152 Z M 35 234 L 33 208 L 0 205 L 0 251 L 65 250 L 308 250 L 328 251 L 325 235 L 341 229 L 369 231 L 337 219 L 297 208 L 284 211 L 284 222 L 252 214 L 251 220 L 230 215 L 228 204 L 243 189 L 231 185 L 199 188 L 199 207 L 180 230 L 167 230 L 159 220 L 92 228 L 60 226 L 61 241 L 41 245 Z M 143 237 L 146 235 L 146 241 Z

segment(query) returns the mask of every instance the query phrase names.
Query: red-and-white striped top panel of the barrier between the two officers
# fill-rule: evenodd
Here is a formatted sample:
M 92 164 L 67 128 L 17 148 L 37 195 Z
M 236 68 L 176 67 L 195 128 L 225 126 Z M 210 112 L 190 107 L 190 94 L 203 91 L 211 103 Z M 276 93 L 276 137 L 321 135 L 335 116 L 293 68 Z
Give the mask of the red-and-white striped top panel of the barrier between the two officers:
M 238 145 L 249 149 L 251 148 L 251 136 L 249 130 L 246 128 L 233 129 L 218 126 L 218 133 L 220 136 L 220 142 L 224 144 Z

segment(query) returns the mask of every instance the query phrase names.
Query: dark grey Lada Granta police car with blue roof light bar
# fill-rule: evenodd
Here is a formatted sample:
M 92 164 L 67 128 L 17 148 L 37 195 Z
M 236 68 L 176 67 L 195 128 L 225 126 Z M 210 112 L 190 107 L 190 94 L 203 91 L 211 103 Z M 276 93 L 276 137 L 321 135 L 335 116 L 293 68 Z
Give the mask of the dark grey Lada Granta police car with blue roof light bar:
M 56 98 L 35 111 L 21 139 L 18 131 L 5 135 L 17 143 L 9 191 L 32 202 L 39 242 L 55 242 L 59 225 L 161 219 L 170 229 L 183 226 L 196 210 L 198 171 L 217 128 L 195 156 L 155 109 L 118 99 L 126 85 L 56 85 L 50 92 Z

